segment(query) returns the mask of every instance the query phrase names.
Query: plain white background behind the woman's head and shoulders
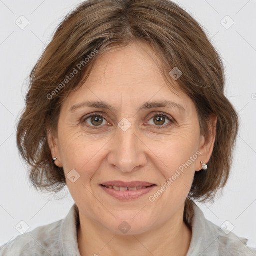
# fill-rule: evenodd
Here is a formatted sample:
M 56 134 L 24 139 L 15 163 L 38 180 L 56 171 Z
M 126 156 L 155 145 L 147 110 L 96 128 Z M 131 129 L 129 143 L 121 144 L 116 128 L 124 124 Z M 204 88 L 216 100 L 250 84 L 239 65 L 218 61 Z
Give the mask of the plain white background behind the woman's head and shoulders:
M 73 200 L 36 192 L 16 148 L 16 122 L 27 91 L 27 78 L 62 18 L 81 0 L 0 0 L 0 245 L 19 235 L 25 221 L 31 231 L 62 219 Z M 207 219 L 256 247 L 256 0 L 178 0 L 220 52 L 226 68 L 226 95 L 240 117 L 231 175 L 214 204 L 199 204 Z M 23 15 L 29 24 L 20 29 Z M 234 24 L 226 29 L 232 22 Z M 224 19 L 223 19 L 224 18 Z M 24 24 L 24 23 L 23 23 Z M 58 199 L 65 196 L 63 199 Z

